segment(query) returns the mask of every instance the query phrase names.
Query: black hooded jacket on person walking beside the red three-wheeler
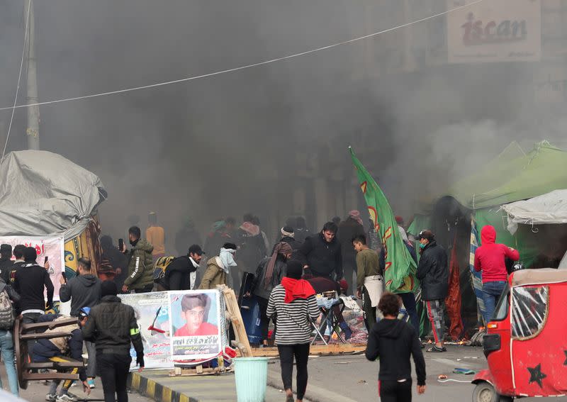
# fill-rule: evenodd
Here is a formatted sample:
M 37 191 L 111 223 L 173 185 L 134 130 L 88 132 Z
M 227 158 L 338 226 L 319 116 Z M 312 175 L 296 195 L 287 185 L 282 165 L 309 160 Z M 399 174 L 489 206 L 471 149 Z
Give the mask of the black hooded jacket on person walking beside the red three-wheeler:
M 410 354 L 415 363 L 417 385 L 425 385 L 425 359 L 413 327 L 404 321 L 386 318 L 374 324 L 366 345 L 366 359 L 380 358 L 379 380 L 411 379 Z

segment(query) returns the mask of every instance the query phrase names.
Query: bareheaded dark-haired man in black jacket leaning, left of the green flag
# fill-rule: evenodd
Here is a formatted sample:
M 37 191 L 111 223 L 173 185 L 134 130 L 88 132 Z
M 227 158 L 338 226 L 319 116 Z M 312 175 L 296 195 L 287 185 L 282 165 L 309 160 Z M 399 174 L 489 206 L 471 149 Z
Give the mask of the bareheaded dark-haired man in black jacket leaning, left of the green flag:
M 337 242 L 337 225 L 327 222 L 317 235 L 305 239 L 298 251 L 298 258 L 309 268 L 313 277 L 342 279 L 341 245 Z

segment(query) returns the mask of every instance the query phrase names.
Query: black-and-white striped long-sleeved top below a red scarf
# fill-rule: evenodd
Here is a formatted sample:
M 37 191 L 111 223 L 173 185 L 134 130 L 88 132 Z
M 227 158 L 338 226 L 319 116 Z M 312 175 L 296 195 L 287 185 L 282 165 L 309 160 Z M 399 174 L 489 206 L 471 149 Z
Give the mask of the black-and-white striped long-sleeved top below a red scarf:
M 315 295 L 307 299 L 299 298 L 291 303 L 284 303 L 286 289 L 276 286 L 270 294 L 266 316 L 276 316 L 276 345 L 296 345 L 308 343 L 311 325 L 308 318 L 315 321 L 319 316 L 319 308 Z

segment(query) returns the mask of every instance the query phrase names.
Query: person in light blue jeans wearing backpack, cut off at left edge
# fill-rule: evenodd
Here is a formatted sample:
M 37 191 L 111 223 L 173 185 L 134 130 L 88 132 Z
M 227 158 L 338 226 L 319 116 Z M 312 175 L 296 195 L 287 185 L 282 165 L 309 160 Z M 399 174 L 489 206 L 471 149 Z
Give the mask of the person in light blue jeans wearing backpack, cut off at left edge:
M 16 374 L 16 364 L 14 364 L 13 347 L 13 323 L 16 320 L 13 304 L 20 300 L 20 296 L 6 284 L 4 279 L 0 279 L 0 351 L 2 360 L 6 368 L 6 375 L 10 385 L 10 391 L 15 396 L 19 396 L 18 374 Z M 2 380 L 0 379 L 0 389 Z

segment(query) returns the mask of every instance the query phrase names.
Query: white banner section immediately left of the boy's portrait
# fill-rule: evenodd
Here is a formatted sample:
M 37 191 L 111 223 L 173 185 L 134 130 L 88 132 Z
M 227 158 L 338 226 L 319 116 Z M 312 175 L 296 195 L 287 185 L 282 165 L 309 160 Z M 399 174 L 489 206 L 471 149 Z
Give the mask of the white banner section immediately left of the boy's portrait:
M 144 363 L 146 369 L 170 369 L 171 338 L 169 337 L 169 299 L 167 291 L 121 294 L 122 303 L 132 306 L 144 345 Z M 130 369 L 136 369 L 136 352 L 130 349 L 132 363 Z

